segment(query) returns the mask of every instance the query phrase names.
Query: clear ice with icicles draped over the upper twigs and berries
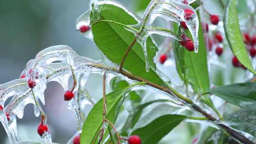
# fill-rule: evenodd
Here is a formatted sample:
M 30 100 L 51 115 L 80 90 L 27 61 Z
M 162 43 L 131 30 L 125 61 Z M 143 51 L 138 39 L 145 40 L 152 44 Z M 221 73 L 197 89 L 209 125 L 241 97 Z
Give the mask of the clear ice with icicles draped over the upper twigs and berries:
M 192 1 L 191 1 L 192 2 Z M 119 4 L 118 2 L 112 0 L 91 0 L 90 1 L 90 8 L 88 11 L 83 13 L 76 21 L 76 28 L 79 29 L 83 25 L 92 25 L 93 23 L 97 22 L 98 19 L 90 19 L 91 12 L 93 13 L 100 13 L 101 9 L 98 9 L 99 5 L 109 4 L 119 7 L 126 11 L 130 16 L 135 18 L 138 22 L 136 25 L 125 27 L 128 31 L 134 33 L 137 36 L 137 42 L 142 46 L 144 51 L 145 60 L 146 60 L 146 71 L 149 71 L 149 62 L 147 57 L 147 50 L 146 50 L 146 40 L 148 36 L 152 34 L 157 34 L 161 36 L 167 36 L 174 38 L 176 40 L 181 41 L 181 37 L 175 35 L 172 31 L 169 31 L 162 27 L 155 27 L 154 21 L 155 18 L 161 17 L 165 18 L 166 20 L 170 20 L 173 22 L 186 22 L 188 29 L 191 32 L 193 41 L 194 41 L 194 49 L 195 52 L 198 52 L 198 29 L 199 29 L 199 20 L 196 15 L 195 10 L 187 5 L 183 4 L 182 2 L 177 2 L 176 0 L 152 0 L 148 5 L 147 9 L 144 13 L 144 18 L 137 18 L 132 12 L 128 11 L 124 6 Z M 184 17 L 184 9 L 191 9 L 194 14 L 192 14 L 190 19 Z M 95 17 L 94 17 L 95 18 Z M 100 16 L 99 16 L 100 18 Z M 88 31 L 83 33 L 84 36 L 93 40 L 92 31 Z

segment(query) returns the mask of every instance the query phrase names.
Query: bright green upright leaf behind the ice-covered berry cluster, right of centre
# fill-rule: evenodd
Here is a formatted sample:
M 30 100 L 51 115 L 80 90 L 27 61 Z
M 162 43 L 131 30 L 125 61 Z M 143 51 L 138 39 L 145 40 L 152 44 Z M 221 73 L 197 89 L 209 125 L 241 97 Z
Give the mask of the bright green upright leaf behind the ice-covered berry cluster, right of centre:
M 200 22 L 200 14 L 197 13 L 197 15 Z M 175 23 L 174 30 L 177 32 L 177 35 L 180 35 L 180 27 L 178 27 Z M 187 35 L 191 37 L 189 32 L 187 32 Z M 177 72 L 185 84 L 187 85 L 189 82 L 192 85 L 195 93 L 204 93 L 210 88 L 210 80 L 207 63 L 207 51 L 201 23 L 199 24 L 198 36 L 198 53 L 189 52 L 185 50 L 184 47 L 180 46 L 178 42 L 174 42 L 174 57 Z M 219 114 L 218 110 L 213 105 L 212 100 L 208 96 L 202 96 L 201 100 Z

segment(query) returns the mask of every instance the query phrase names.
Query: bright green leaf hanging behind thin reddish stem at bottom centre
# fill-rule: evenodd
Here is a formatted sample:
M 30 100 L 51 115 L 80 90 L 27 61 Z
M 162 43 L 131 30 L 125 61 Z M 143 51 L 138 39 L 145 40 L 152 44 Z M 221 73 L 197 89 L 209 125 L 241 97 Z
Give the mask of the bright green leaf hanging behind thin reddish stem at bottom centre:
M 122 99 L 124 99 L 123 95 L 128 90 L 128 88 L 129 87 L 125 89 L 115 90 L 113 92 L 110 92 L 106 96 L 107 98 L 106 117 L 112 123 L 114 123 L 116 120 L 116 116 L 117 116 L 117 113 L 119 112 Z M 88 117 L 86 118 L 84 125 L 82 127 L 82 134 L 80 139 L 82 144 L 93 144 L 93 141 L 95 140 L 95 138 L 97 138 L 97 135 L 101 130 L 101 126 L 102 126 L 102 119 L 103 119 L 102 105 L 103 105 L 103 101 L 101 99 L 91 109 Z

